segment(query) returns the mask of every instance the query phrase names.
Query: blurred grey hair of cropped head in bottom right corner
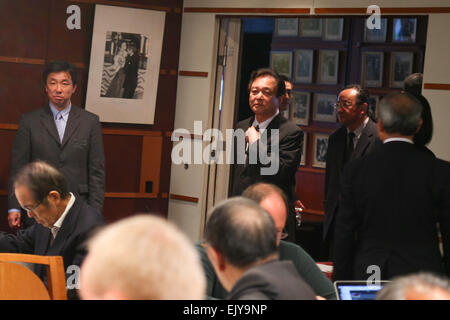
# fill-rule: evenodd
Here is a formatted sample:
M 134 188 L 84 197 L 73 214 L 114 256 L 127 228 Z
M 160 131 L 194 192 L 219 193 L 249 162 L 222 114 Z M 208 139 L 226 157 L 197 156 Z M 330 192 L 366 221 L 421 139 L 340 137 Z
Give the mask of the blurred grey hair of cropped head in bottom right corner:
M 431 273 L 422 272 L 407 276 L 396 277 L 380 290 L 377 300 L 406 300 L 407 292 L 429 292 L 440 289 L 450 295 L 450 281 Z

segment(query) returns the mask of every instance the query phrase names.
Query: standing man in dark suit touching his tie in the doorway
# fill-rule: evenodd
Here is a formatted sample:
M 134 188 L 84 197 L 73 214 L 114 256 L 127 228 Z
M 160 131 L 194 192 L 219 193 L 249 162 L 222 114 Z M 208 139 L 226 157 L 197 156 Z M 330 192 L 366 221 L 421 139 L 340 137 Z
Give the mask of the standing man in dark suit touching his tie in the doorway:
M 248 89 L 249 105 L 255 115 L 240 121 L 236 126 L 237 132 L 245 132 L 245 141 L 234 143 L 231 195 L 241 195 L 248 186 L 257 182 L 278 186 L 289 201 L 287 240 L 295 242 L 295 183 L 302 155 L 303 132 L 278 110 L 284 99 L 285 85 L 275 71 L 254 71 Z M 240 150 L 246 150 L 242 157 L 245 159 L 243 163 L 238 161 Z

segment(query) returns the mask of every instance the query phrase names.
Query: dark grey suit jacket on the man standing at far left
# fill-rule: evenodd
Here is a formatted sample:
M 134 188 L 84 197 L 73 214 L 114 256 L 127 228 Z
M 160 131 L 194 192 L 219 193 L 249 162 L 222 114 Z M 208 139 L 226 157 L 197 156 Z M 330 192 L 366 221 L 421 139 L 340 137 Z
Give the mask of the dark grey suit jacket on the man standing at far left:
M 48 105 L 22 116 L 11 151 L 9 209 L 20 208 L 12 186 L 15 174 L 35 160 L 60 169 L 69 191 L 102 212 L 105 156 L 97 115 L 72 104 L 62 144 Z

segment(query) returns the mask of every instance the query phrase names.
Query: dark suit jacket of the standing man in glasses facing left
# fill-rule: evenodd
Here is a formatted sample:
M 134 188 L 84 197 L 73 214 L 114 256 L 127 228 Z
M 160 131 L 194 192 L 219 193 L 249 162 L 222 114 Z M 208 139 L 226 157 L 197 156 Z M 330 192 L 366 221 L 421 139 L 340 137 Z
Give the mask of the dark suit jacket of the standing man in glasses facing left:
M 328 138 L 328 150 L 325 169 L 325 216 L 323 221 L 323 239 L 327 239 L 334 228 L 334 216 L 337 211 L 341 190 L 341 175 L 344 169 L 344 153 L 347 142 L 347 129 L 341 126 Z M 361 133 L 355 150 L 349 161 L 361 158 L 379 147 L 378 128 L 369 120 Z M 330 239 L 327 239 L 330 240 Z

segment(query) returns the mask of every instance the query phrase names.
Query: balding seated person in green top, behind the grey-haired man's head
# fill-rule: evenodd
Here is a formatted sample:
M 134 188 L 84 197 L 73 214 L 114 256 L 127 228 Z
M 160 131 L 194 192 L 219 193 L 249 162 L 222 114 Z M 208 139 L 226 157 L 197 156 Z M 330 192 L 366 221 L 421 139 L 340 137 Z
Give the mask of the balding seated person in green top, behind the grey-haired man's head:
M 247 189 L 242 194 L 267 210 L 275 222 L 277 230 L 277 246 L 280 260 L 288 260 L 294 266 L 300 276 L 311 286 L 316 294 L 326 299 L 336 299 L 336 293 L 331 281 L 317 267 L 311 256 L 302 247 L 288 241 L 281 240 L 282 231 L 287 217 L 287 199 L 283 191 L 273 184 L 257 183 Z M 225 299 L 228 292 L 220 284 L 211 262 L 207 256 L 205 245 L 202 242 L 196 244 L 203 263 L 203 270 L 206 274 L 207 290 L 209 298 Z

